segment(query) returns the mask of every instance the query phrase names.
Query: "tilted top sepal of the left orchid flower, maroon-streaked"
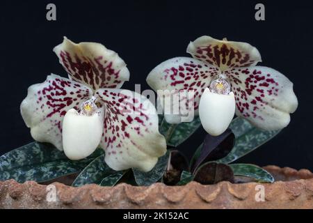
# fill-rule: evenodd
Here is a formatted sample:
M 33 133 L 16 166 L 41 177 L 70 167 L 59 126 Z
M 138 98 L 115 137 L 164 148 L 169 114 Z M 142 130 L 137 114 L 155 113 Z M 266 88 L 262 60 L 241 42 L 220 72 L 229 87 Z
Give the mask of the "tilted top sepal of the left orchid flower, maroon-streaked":
M 120 88 L 129 80 L 125 62 L 99 43 L 76 44 L 64 38 L 54 52 L 70 78 L 91 89 Z

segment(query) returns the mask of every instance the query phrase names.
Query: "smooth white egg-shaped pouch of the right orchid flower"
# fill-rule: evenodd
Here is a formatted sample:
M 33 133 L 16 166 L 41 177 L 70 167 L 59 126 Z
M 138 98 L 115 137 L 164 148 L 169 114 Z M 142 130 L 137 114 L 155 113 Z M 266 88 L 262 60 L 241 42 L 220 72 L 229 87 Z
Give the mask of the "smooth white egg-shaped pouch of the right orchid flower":
M 205 131 L 212 136 L 222 134 L 227 130 L 234 118 L 234 93 L 227 95 L 212 93 L 205 89 L 200 99 L 199 116 Z

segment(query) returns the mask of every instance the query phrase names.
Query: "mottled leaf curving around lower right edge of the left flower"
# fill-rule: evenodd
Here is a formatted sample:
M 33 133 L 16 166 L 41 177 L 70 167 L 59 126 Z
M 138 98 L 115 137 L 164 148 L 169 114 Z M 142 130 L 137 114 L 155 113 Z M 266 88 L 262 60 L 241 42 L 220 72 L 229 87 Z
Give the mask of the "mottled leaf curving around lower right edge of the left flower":
M 139 186 L 148 186 L 160 180 L 166 171 L 166 167 L 168 167 L 169 154 L 170 151 L 167 151 L 166 155 L 159 157 L 157 164 L 149 172 L 143 172 L 139 171 L 138 169 L 133 169 L 136 183 Z

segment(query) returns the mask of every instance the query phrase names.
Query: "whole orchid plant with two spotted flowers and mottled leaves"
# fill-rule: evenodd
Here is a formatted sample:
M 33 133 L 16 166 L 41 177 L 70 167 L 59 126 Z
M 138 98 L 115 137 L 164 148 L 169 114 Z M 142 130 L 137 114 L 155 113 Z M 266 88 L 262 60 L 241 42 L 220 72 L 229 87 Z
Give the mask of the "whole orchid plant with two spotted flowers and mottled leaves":
M 188 45 L 193 58 L 169 59 L 150 72 L 147 83 L 159 98 L 192 93 L 186 104 L 195 118 L 188 122 L 182 113 L 165 112 L 175 100 L 161 105 L 158 116 L 145 96 L 120 89 L 129 70 L 104 45 L 64 38 L 54 52 L 69 78 L 49 75 L 29 87 L 21 113 L 35 141 L 0 157 L 0 180 L 73 175 L 73 186 L 273 182 L 261 167 L 230 164 L 275 137 L 298 106 L 287 77 L 256 66 L 261 56 L 255 47 L 202 36 Z M 181 148 L 201 125 L 209 134 L 188 148 L 195 151 L 189 162 Z

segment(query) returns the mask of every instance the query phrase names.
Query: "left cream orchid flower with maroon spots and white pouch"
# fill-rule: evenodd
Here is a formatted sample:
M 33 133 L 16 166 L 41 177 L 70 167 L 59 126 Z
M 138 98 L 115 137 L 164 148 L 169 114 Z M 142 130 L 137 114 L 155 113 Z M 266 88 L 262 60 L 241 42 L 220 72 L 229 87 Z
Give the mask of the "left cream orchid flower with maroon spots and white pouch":
M 54 144 L 71 160 L 100 146 L 112 169 L 150 171 L 166 153 L 166 140 L 150 100 L 119 89 L 129 79 L 125 62 L 104 45 L 67 38 L 54 52 L 69 79 L 49 75 L 29 87 L 21 113 L 33 139 Z

